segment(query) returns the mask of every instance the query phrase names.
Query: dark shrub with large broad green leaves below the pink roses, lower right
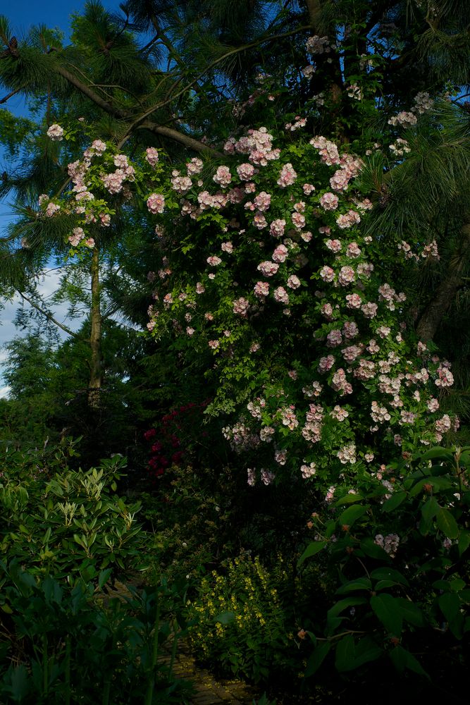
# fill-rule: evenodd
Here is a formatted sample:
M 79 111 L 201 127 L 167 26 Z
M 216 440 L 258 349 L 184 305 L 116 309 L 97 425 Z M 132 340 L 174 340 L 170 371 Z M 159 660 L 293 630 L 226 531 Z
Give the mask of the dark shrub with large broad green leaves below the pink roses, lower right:
M 314 562 L 332 589 L 311 604 L 301 637 L 314 649 L 306 675 L 335 668 L 373 678 L 389 659 L 404 675 L 452 682 L 464 674 L 470 632 L 470 448 L 430 448 L 376 477 L 343 486 L 309 522 Z M 452 664 L 444 655 L 452 649 Z M 468 654 L 467 654 L 468 655 Z M 383 665 L 381 673 L 390 669 Z

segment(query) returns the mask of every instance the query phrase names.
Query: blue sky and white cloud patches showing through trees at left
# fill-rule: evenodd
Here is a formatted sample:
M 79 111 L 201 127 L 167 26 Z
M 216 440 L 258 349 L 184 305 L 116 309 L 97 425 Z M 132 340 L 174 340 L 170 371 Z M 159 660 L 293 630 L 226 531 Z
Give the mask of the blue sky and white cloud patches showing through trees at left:
M 101 0 L 106 9 L 118 10 L 120 1 L 122 0 Z M 62 30 L 67 41 L 68 29 L 70 27 L 70 15 L 74 12 L 80 12 L 85 7 L 85 0 L 0 0 L 0 15 L 8 18 L 13 35 L 18 39 L 25 37 L 31 27 L 44 24 L 49 27 L 58 27 Z M 3 47 L 2 47 L 3 49 Z M 4 92 L 1 92 L 0 98 L 4 97 Z M 16 115 L 25 115 L 26 106 L 23 99 L 14 96 L 9 99 L 6 104 L 0 105 L 0 109 L 8 108 Z M 0 172 L 4 171 L 4 157 L 0 149 Z M 0 202 L 0 237 L 11 221 L 13 214 L 11 208 L 8 207 L 8 202 Z M 42 283 L 42 291 L 44 295 L 53 293 L 57 283 L 58 275 L 44 278 Z M 1 345 L 11 341 L 11 339 L 20 334 L 20 331 L 13 325 L 13 319 L 18 307 L 18 301 L 7 303 L 3 311 L 0 311 L 0 396 L 3 396 L 8 390 L 4 387 L 4 381 L 1 375 L 1 362 L 5 360 L 6 353 L 1 349 Z M 66 315 L 66 307 L 55 309 L 55 314 L 58 320 L 63 321 Z M 73 327 L 73 324 L 70 324 Z M 75 321 L 75 326 L 78 326 Z

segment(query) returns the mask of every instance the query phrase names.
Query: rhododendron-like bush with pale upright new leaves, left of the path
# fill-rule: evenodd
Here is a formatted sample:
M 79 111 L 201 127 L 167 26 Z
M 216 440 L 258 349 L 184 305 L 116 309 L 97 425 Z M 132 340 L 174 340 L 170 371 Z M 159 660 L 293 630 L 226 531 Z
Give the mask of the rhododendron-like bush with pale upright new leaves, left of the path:
M 13 465 L 0 479 L 0 546 L 32 572 L 75 579 L 89 567 L 137 568 L 145 537 L 135 522 L 139 503 L 116 496 L 125 459 L 99 470 L 64 468 L 51 475 Z

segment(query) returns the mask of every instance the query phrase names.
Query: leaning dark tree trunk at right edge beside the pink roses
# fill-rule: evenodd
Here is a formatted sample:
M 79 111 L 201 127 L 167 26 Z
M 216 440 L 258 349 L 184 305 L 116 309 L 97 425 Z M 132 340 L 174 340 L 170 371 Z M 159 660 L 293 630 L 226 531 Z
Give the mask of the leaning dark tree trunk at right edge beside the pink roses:
M 457 294 L 457 290 L 462 285 L 462 271 L 464 271 L 469 247 L 470 222 L 467 222 L 462 226 L 462 241 L 459 243 L 454 256 L 450 259 L 443 281 L 438 286 L 433 300 L 429 302 L 416 326 L 416 334 L 423 343 L 433 340 L 440 321 L 442 321 Z

